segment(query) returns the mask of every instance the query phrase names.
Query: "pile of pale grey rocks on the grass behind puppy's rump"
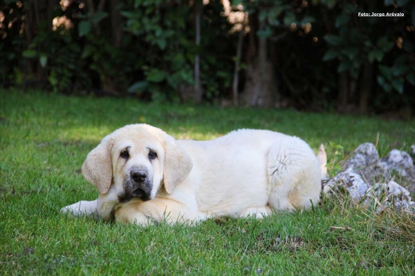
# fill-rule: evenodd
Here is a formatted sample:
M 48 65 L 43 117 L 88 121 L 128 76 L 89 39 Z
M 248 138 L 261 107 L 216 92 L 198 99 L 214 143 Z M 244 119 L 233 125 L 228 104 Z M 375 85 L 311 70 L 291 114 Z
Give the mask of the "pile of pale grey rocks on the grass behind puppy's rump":
M 415 146 L 412 150 L 415 152 Z M 396 179 L 407 188 L 396 183 Z M 344 161 L 342 172 L 322 181 L 322 185 L 327 196 L 346 191 L 353 201 L 375 204 L 378 212 L 396 208 L 415 213 L 415 201 L 411 198 L 411 193 L 415 193 L 415 165 L 404 151 L 391 150 L 379 159 L 374 144 L 362 144 Z

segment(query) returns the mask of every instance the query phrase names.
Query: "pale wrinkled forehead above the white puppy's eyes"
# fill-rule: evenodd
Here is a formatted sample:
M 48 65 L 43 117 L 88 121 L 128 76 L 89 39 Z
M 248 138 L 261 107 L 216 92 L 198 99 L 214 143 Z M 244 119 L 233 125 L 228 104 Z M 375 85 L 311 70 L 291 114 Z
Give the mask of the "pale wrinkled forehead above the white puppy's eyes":
M 127 149 L 131 152 L 145 149 L 160 150 L 162 147 L 158 137 L 151 135 L 142 128 L 127 129 L 117 133 L 113 144 L 113 151 Z

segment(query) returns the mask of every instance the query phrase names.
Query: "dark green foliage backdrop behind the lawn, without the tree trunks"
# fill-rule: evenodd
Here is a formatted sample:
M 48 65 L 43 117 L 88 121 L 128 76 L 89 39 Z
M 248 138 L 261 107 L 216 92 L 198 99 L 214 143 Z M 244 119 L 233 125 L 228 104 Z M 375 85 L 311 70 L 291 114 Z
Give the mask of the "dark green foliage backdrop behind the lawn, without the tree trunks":
M 369 110 L 415 104 L 413 1 L 231 2 L 232 12 L 248 12 L 253 39 L 266 39 L 277 88 L 291 106 L 333 109 L 342 74 L 348 76 L 351 106 L 359 105 L 365 89 L 370 101 L 362 104 Z M 359 17 L 359 12 L 405 16 Z M 1 83 L 175 101 L 192 91 L 199 54 L 205 101 L 229 98 L 238 35 L 221 1 L 209 1 L 202 13 L 196 47 L 194 1 L 8 0 L 0 15 Z M 57 19 L 62 22 L 56 27 Z M 264 29 L 259 21 L 266 22 Z M 243 40 L 242 69 L 251 55 L 250 34 Z M 241 68 L 242 91 L 247 77 Z

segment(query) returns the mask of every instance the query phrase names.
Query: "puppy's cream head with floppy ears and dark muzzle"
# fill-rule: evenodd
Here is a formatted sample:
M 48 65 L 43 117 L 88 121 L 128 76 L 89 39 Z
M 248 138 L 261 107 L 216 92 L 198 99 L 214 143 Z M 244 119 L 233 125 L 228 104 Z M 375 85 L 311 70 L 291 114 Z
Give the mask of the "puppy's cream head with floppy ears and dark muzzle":
M 86 157 L 82 173 L 101 195 L 111 192 L 119 203 L 147 201 L 160 186 L 171 194 L 192 170 L 192 159 L 163 130 L 146 124 L 124 126 Z

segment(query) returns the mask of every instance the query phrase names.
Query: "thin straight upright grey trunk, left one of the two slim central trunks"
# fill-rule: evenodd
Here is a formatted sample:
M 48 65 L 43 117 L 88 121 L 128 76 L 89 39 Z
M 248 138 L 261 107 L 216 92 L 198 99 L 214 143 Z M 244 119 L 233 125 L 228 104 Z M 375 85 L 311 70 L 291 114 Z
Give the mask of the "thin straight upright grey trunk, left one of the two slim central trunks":
M 200 81 L 200 61 L 199 61 L 199 46 L 201 45 L 201 13 L 203 8 L 203 1 L 196 0 L 194 3 L 194 23 L 196 27 L 196 56 L 194 57 L 194 103 L 201 103 L 202 90 Z

